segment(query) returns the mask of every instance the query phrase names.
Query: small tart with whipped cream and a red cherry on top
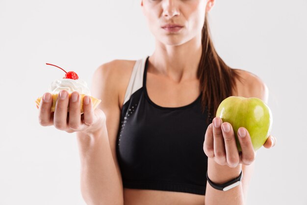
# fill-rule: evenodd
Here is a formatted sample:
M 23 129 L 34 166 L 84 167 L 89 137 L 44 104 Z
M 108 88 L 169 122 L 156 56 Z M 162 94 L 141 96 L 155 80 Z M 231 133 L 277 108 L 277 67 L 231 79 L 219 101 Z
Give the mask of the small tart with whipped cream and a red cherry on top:
M 46 63 L 47 65 L 52 65 L 55 67 L 58 67 L 53 64 Z M 60 67 L 58 67 L 60 68 Z M 62 68 L 60 68 L 62 69 Z M 101 100 L 92 97 L 90 89 L 87 87 L 87 84 L 85 81 L 79 79 L 77 73 L 74 71 L 66 72 L 64 69 L 62 69 L 66 74 L 63 79 L 58 79 L 53 81 L 50 86 L 49 86 L 49 92 L 52 94 L 52 106 L 51 106 L 51 112 L 54 112 L 55 109 L 55 103 L 57 100 L 57 96 L 59 92 L 63 89 L 66 89 L 69 92 L 69 96 L 71 95 L 72 92 L 77 91 L 80 94 L 80 112 L 83 113 L 83 98 L 85 95 L 88 95 L 93 104 L 93 109 L 97 108 Z M 42 100 L 42 96 L 37 98 L 35 103 L 36 107 L 39 107 L 39 104 Z M 68 109 L 69 110 L 69 109 Z

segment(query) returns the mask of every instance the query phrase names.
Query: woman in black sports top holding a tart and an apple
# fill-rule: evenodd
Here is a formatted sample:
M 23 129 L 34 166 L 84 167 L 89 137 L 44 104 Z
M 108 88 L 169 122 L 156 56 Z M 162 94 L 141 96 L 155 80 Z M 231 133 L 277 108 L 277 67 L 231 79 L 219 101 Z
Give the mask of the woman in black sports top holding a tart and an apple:
M 114 60 L 97 69 L 92 94 L 102 99 L 100 109 L 85 97 L 80 120 L 79 94 L 69 100 L 62 90 L 51 117 L 51 102 L 42 101 L 42 125 L 77 132 L 87 204 L 244 204 L 255 160 L 249 133 L 238 131 L 239 154 L 231 125 L 210 116 L 230 95 L 267 101 L 267 89 L 216 54 L 205 18 L 214 1 L 142 0 L 155 50 L 143 60 Z M 217 189 L 232 179 L 239 185 Z

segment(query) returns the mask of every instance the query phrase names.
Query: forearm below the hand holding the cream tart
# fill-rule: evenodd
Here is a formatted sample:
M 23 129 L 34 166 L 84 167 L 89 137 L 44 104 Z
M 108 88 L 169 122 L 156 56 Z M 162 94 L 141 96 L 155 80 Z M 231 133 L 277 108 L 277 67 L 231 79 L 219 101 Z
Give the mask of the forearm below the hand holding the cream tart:
M 77 133 L 81 192 L 88 205 L 123 205 L 122 184 L 115 167 L 106 127 L 92 134 Z

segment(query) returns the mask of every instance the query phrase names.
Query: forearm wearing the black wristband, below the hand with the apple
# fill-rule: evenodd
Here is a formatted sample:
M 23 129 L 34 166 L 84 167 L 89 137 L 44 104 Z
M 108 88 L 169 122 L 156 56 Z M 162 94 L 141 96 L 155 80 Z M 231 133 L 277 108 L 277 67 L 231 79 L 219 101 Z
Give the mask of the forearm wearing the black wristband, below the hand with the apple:
M 241 164 L 239 164 L 236 168 L 230 168 L 227 165 L 221 166 L 214 162 L 213 159 L 208 158 L 208 177 L 215 183 L 223 184 L 239 176 L 240 172 Z M 242 184 L 228 191 L 220 191 L 212 188 L 207 182 L 205 205 L 244 205 L 244 192 Z

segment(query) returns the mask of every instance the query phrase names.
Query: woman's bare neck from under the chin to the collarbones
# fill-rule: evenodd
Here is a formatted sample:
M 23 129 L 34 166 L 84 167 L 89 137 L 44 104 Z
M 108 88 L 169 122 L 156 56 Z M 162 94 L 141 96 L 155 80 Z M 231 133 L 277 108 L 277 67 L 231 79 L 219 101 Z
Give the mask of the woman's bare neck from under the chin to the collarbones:
M 176 82 L 196 79 L 201 55 L 201 36 L 178 46 L 156 41 L 155 50 L 150 57 L 151 72 L 169 77 Z

